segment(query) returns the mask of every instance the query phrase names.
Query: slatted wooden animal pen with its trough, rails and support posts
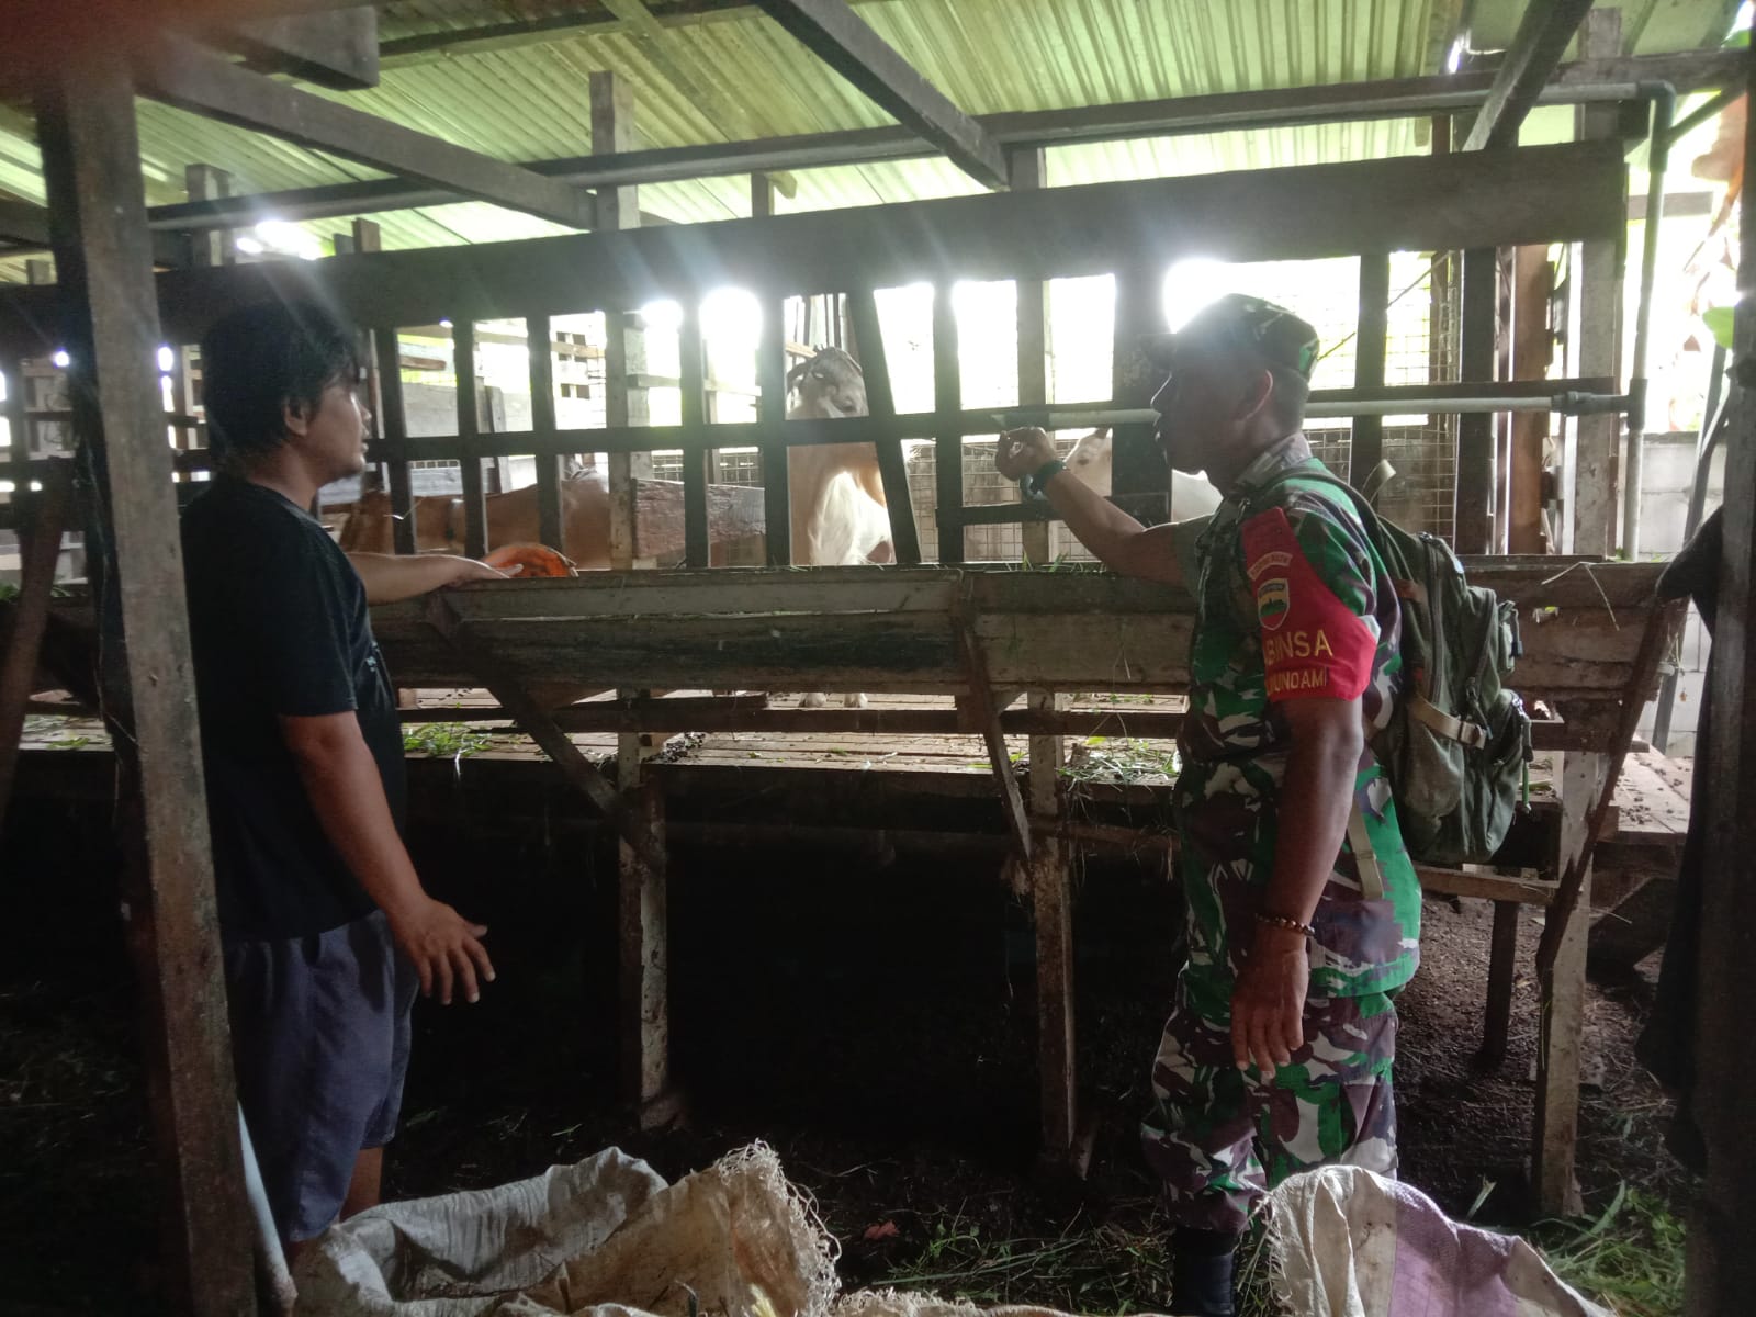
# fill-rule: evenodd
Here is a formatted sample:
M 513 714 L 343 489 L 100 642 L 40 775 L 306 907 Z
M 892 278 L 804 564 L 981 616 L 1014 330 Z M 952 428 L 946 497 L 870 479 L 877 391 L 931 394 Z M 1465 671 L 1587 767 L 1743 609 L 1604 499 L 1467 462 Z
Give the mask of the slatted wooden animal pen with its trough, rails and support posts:
M 163 47 L 165 68 L 181 67 L 179 49 Z M 1524 653 L 1514 681 L 1528 702 L 1540 701 L 1536 748 L 1563 755 L 1554 799 L 1531 804 L 1493 871 L 1422 867 L 1421 880 L 1429 892 L 1494 903 L 1482 1003 L 1487 1062 L 1505 1048 L 1517 990 L 1519 908 L 1542 906 L 1549 915 L 1533 1178 L 1545 1208 L 1565 1212 L 1573 1205 L 1591 848 L 1608 832 L 1607 806 L 1633 736 L 1631 718 L 1656 688 L 1659 657 L 1677 625 L 1675 611 L 1654 602 L 1656 565 L 1608 560 L 1617 543 L 1616 486 L 1608 478 L 1617 421 L 1638 406 L 1621 378 L 1614 323 L 1628 214 L 1619 139 L 1522 149 L 1496 142 L 1494 149 L 1431 156 L 1064 188 L 1041 186 L 1043 140 L 1054 139 L 1026 139 L 1006 153 L 1006 193 L 664 227 L 636 225 L 629 207 L 618 212 L 623 179 L 616 176 L 616 155 L 609 155 L 597 193 L 601 232 L 360 251 L 309 263 L 197 263 L 151 276 L 153 230 L 140 204 L 132 144 L 135 77 L 151 83 L 156 76 L 130 76 L 123 63 L 98 58 L 77 95 L 72 83 L 44 93 L 39 132 L 61 274 L 58 286 L 0 295 L 0 360 L 9 372 L 14 435 L 32 423 L 19 386 L 26 362 L 65 344 L 81 385 L 70 411 L 86 439 L 88 513 L 102 530 L 88 539 L 93 592 L 47 599 L 40 564 L 47 557 L 53 567 L 54 553 L 46 544 L 58 543 L 53 518 L 61 513 L 39 507 L 46 530 L 25 518 L 16 522 L 28 555 L 35 553 L 32 579 L 40 587 L 21 601 L 16 634 L 60 620 L 97 627 L 109 639 L 126 637 L 126 657 L 118 662 L 109 655 L 100 690 L 111 720 L 132 730 L 132 745 L 116 738 L 116 746 L 144 802 L 140 890 L 151 899 L 137 915 L 133 938 L 146 948 L 142 964 L 151 966 L 153 1008 L 162 1022 L 158 1096 L 179 1168 L 186 1266 L 204 1277 L 197 1285 L 202 1310 L 242 1306 L 249 1254 L 241 1243 L 242 1213 L 232 1206 L 239 1201 L 239 1152 L 230 1133 L 235 1120 L 223 987 L 214 968 L 218 932 L 204 855 L 177 558 L 169 550 L 174 467 L 197 471 L 204 457 L 191 441 L 198 418 L 190 395 L 177 400 L 170 418 L 184 435 L 179 451 L 158 441 L 167 416 L 149 365 L 160 342 L 186 362 L 188 344 L 218 314 L 270 297 L 320 299 L 371 334 L 379 430 L 369 458 L 388 476 L 400 518 L 399 551 L 414 550 L 414 472 L 421 462 L 458 464 L 462 541 L 467 553 L 481 555 L 492 548 L 486 460 L 534 460 L 541 537 L 558 544 L 564 458 L 609 458 L 611 571 L 451 590 L 378 608 L 372 622 L 400 685 L 486 690 L 492 697 L 492 704 L 474 702 L 464 713 L 409 701 L 409 723 L 467 716 L 520 729 L 616 832 L 616 1029 L 625 1098 L 641 1122 L 669 1119 L 681 1099 L 669 1073 L 667 829 L 759 841 L 797 827 L 848 832 L 846 818 L 857 808 L 859 827 L 917 829 L 925 845 L 982 839 L 996 880 L 1010 878 L 1029 896 L 1041 1147 L 1050 1161 L 1078 1164 L 1089 1148 L 1082 1147 L 1075 1071 L 1073 862 L 1089 846 L 1164 853 L 1171 843 L 1141 827 L 1164 804 L 1164 785 L 1075 781 L 1061 769 L 1069 738 L 1175 736 L 1192 601 L 1094 571 L 1041 569 L 1055 557 L 1045 506 L 973 502 L 973 450 L 964 439 L 1010 425 L 1112 425 L 1117 502 L 1145 520 L 1162 520 L 1164 472 L 1152 460 L 1141 411 L 1157 381 L 1133 351 L 1140 335 L 1159 328 L 1162 270 L 1196 255 L 1227 262 L 1357 260 L 1354 379 L 1312 399 L 1313 414 L 1349 423 L 1347 443 L 1336 443 L 1329 457 L 1342 474 L 1363 483 L 1398 443 L 1414 443 L 1398 432 L 1396 418 L 1403 416 L 1424 418 L 1403 428 L 1431 430 L 1431 446 L 1445 450 L 1447 458 L 1454 444 L 1454 506 L 1443 507 L 1436 529 L 1450 532 L 1472 581 L 1517 602 Z M 223 77 L 214 79 L 204 95 L 216 105 L 230 104 L 234 91 Z M 1484 83 L 1468 105 L 1480 105 L 1489 91 Z M 1644 95 L 1628 84 L 1573 91 L 1579 100 L 1605 102 Z M 1407 114 L 1410 104 L 1421 112 L 1442 112 L 1461 104 L 1445 88 L 1426 90 L 1424 98 L 1400 95 L 1394 105 L 1384 102 L 1382 112 Z M 202 107 L 195 93 L 183 98 Z M 1178 130 L 1234 121 L 1224 109 L 1191 109 Z M 235 107 L 214 112 L 235 121 L 242 114 Z M 1329 112 L 1373 111 L 1370 100 L 1361 111 L 1329 105 L 1324 97 L 1306 97 L 1296 109 L 1301 121 Z M 272 116 L 272 107 L 263 114 Z M 1145 130 L 1136 125 L 1127 132 Z M 1572 374 L 1496 378 L 1494 251 L 1533 244 L 1568 244 L 1579 253 Z M 1410 260 L 1407 253 L 1419 253 L 1419 263 L 1433 270 L 1459 276 L 1435 302 L 1457 313 L 1456 365 L 1450 378 L 1429 372 L 1424 383 L 1387 385 L 1387 307 L 1396 291 L 1391 270 L 1393 262 Z M 1050 402 L 1043 290 L 1055 279 L 1087 276 L 1115 281 L 1113 323 L 1106 327 L 1113 342 L 1112 388 L 1108 397 Z M 1003 407 L 964 406 L 950 288 L 969 279 L 1006 281 L 1017 291 L 1017 397 Z M 899 413 L 876 293 L 917 283 L 936 290 L 932 407 Z M 753 420 L 725 421 L 709 413 L 699 307 L 725 286 L 750 290 L 762 307 Z M 785 420 L 790 358 L 783 307 L 787 299 L 820 295 L 836 295 L 845 306 L 869 416 Z M 681 307 L 680 420 L 662 425 L 650 423 L 643 402 L 651 379 L 643 371 L 634 316 L 658 299 Z M 557 414 L 557 367 L 562 363 L 565 374 L 569 339 L 555 325 L 587 313 L 601 313 L 608 332 L 602 423 L 581 428 L 564 425 Z M 458 363 L 455 427 L 451 434 L 414 435 L 402 395 L 399 334 L 446 321 Z M 530 346 L 529 428 L 481 423 L 471 363 L 488 321 L 492 334 L 506 334 L 509 321 L 522 323 L 516 337 Z M 1435 341 L 1442 337 L 1433 332 Z M 1507 518 L 1496 509 L 1522 478 L 1522 467 L 1496 443 L 1491 416 L 1529 411 L 1572 418 L 1575 457 L 1565 490 L 1570 557 L 1507 551 Z M 1449 416 L 1459 418 L 1454 430 L 1443 421 Z M 40 420 L 65 416 L 56 411 Z M 911 479 L 906 441 L 932 441 L 931 527 L 917 525 L 913 515 L 924 476 L 917 471 Z M 787 451 L 845 443 L 876 450 L 896 565 L 797 571 L 790 567 Z M 709 565 L 723 530 L 713 509 L 732 506 L 715 502 L 715 492 L 734 483 L 715 479 L 720 450 L 760 455 L 762 567 Z M 655 451 L 680 455 L 671 458 L 678 479 L 666 483 L 664 525 L 653 515 L 641 516 L 639 492 L 653 486 Z M 1747 467 L 1740 471 L 1747 474 Z M 53 462 L 33 458 L 28 444 L 14 444 L 9 476 L 18 490 L 44 485 L 46 499 L 63 479 Z M 12 511 L 30 504 L 18 499 Z M 1740 544 L 1747 544 L 1747 507 L 1744 518 Z M 973 534 L 1006 525 L 1020 527 L 1022 557 L 1038 569 L 966 557 Z M 922 534 L 925 529 L 931 536 Z M 680 550 L 681 569 L 643 569 L 657 557 L 660 539 Z M 1494 550 L 1500 553 L 1491 555 Z M 26 671 L 5 688 L 18 697 L 19 713 L 33 685 L 28 678 Z M 592 694 L 558 702 L 555 692 L 565 687 L 574 695 Z M 908 699 L 820 711 L 771 699 L 799 690 Z M 704 753 L 667 762 L 658 752 L 673 732 L 708 734 Z M 752 766 L 732 755 L 715 759 L 715 734 L 736 736 L 741 746 L 752 745 L 750 738 L 771 738 L 776 760 Z M 987 769 L 985 776 L 934 773 L 920 764 L 890 766 L 880 755 L 855 783 L 850 767 L 827 766 L 820 755 L 788 760 L 788 746 L 795 750 L 802 745 L 797 738 L 815 734 L 915 743 L 980 736 Z M 83 755 L 91 767 L 58 771 L 105 773 L 100 748 L 93 743 Z M 21 771 L 30 771 L 32 760 L 26 752 Z M 760 820 L 727 818 L 711 808 L 683 822 L 671 818 L 680 792 L 711 801 L 716 792 L 753 781 L 771 792 L 771 810 Z M 922 799 L 954 801 L 950 815 L 934 815 L 950 822 L 920 827 Z

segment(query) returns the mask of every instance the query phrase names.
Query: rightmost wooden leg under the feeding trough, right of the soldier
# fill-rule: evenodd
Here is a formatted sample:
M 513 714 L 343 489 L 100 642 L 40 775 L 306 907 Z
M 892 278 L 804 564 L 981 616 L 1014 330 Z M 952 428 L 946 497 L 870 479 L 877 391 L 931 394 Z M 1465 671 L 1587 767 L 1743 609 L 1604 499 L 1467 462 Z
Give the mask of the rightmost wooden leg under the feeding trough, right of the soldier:
M 1607 757 L 1568 750 L 1561 757 L 1561 831 L 1556 873 L 1584 850 L 1593 804 L 1603 781 Z M 1542 1212 L 1559 1217 L 1580 1210 L 1573 1178 L 1573 1148 L 1579 1143 L 1579 1076 L 1586 1034 L 1586 925 L 1591 922 L 1591 869 L 1582 871 L 1579 904 L 1565 918 L 1542 1001 L 1536 1043 L 1536 1120 L 1531 1129 L 1531 1180 Z

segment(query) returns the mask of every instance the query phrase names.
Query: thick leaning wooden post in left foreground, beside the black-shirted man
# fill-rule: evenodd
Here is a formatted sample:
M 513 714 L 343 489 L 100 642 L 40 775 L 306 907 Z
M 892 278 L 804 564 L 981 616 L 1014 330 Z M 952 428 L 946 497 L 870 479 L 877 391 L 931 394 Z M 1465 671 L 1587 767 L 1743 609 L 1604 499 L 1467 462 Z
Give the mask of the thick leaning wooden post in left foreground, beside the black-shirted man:
M 37 104 L 76 428 L 95 472 L 91 571 L 118 734 L 130 948 L 167 1171 L 167 1306 L 253 1313 L 251 1213 L 227 1029 L 183 551 L 160 404 L 158 293 L 123 51 L 88 49 Z

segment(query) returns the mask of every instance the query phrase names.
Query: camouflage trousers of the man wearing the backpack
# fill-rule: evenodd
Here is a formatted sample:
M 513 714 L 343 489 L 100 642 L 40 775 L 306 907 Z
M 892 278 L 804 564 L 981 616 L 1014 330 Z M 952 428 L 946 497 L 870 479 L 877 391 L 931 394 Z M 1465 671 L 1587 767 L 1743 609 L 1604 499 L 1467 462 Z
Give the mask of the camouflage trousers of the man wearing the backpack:
M 1340 1162 L 1396 1173 L 1391 997 L 1306 999 L 1305 1045 L 1263 1076 L 1236 1068 L 1229 1018 L 1191 1010 L 1178 982 L 1152 1064 L 1154 1112 L 1141 1124 L 1173 1222 L 1238 1234 L 1250 1208 L 1296 1171 Z

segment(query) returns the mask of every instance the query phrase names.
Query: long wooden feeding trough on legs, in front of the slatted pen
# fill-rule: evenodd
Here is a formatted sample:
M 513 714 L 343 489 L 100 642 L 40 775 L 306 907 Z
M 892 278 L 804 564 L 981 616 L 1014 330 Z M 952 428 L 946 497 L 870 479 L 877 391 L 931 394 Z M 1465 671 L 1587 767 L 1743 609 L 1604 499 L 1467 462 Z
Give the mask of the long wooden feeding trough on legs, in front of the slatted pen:
M 1542 980 L 1535 1177 L 1545 1196 L 1572 1192 L 1584 1008 L 1589 850 L 1631 736 L 1631 715 L 1656 688 L 1658 655 L 1677 613 L 1654 599 L 1656 564 L 1587 558 L 1475 558 L 1470 579 L 1519 606 L 1524 653 L 1514 683 L 1536 713 L 1542 750 L 1565 752 L 1559 808 L 1542 818 L 1545 841 L 1512 873 L 1422 866 L 1428 890 L 1496 903 L 1484 1059 L 1505 1047 L 1517 952 L 1517 910 L 1538 904 L 1558 922 L 1552 971 Z M 1178 692 L 1189 680 L 1194 601 L 1164 587 L 1105 572 L 964 569 L 681 571 L 585 574 L 571 581 L 485 583 L 374 609 L 374 627 L 397 680 L 409 685 L 488 687 L 500 716 L 515 718 L 567 776 L 609 813 L 625 843 L 646 857 L 623 887 L 623 1020 L 637 1096 L 664 1110 L 662 792 L 648 783 L 618 794 L 579 755 L 572 730 L 678 730 L 711 722 L 760 732 L 797 727 L 799 711 L 762 702 L 701 701 L 667 709 L 653 688 L 864 690 L 957 695 L 955 708 L 825 709 L 824 729 L 982 732 L 996 790 L 1026 860 L 1038 906 L 1045 1140 L 1075 1141 L 1068 846 L 1057 839 L 1064 787 L 1034 773 L 1029 802 L 1006 753 L 1004 732 L 1033 734 L 1031 762 L 1059 762 L 1061 734 L 1082 718 L 1061 711 L 1066 692 Z M 557 681 L 618 687 L 618 702 L 560 713 L 529 690 Z M 1006 711 L 1029 692 L 1029 711 Z M 490 716 L 493 711 L 472 711 Z M 1131 736 L 1175 736 L 1182 715 L 1129 718 Z M 641 866 L 637 866 L 641 867 Z M 1570 882 L 1563 882 L 1563 874 Z M 646 911 L 630 918 L 629 911 Z M 1059 954 L 1055 948 L 1061 948 Z M 636 1018 L 637 1015 L 637 1018 Z

